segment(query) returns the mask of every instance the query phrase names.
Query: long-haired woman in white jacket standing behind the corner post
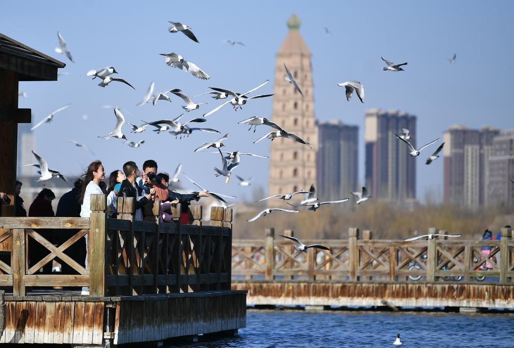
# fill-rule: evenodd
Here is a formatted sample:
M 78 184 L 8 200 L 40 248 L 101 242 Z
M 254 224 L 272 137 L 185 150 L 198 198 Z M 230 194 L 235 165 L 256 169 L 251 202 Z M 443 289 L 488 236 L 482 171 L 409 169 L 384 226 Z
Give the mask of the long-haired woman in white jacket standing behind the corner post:
M 91 215 L 90 196 L 94 194 L 102 195 L 102 189 L 98 184 L 105 179 L 105 170 L 102 162 L 95 161 L 87 167 L 84 174 L 84 183 L 79 195 L 79 203 L 81 204 L 80 216 L 88 218 Z M 114 190 L 107 196 L 107 206 L 113 204 L 118 196 L 118 191 Z M 87 236 L 86 236 L 86 268 L 87 268 Z M 82 295 L 89 295 L 89 287 L 82 287 Z

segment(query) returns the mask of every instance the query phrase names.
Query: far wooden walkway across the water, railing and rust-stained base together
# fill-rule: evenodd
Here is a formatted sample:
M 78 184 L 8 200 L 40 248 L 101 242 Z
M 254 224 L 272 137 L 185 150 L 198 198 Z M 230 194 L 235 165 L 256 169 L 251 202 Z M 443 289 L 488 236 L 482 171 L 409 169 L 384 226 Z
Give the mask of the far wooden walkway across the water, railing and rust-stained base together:
M 263 240 L 234 240 L 232 289 L 248 289 L 249 305 L 514 308 L 510 228 L 494 241 L 373 240 L 357 228 L 348 236 L 305 240 L 332 248 L 307 253 L 271 228 Z

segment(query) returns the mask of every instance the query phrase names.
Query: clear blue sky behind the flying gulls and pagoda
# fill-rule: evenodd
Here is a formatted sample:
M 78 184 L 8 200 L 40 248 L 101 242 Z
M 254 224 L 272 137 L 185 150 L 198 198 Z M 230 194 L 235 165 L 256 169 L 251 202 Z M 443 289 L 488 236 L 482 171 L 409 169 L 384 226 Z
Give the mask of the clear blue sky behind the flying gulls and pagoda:
M 195 7 L 188 7 L 195 4 Z M 437 137 L 449 126 L 465 124 L 472 128 L 492 125 L 514 128 L 512 117 L 512 13 L 514 2 L 5 2 L 0 12 L 0 31 L 15 40 L 65 62 L 58 82 L 25 82 L 20 91 L 20 107 L 33 111 L 39 122 L 52 110 L 67 103 L 72 106 L 58 113 L 54 121 L 35 130 L 36 151 L 67 175 L 78 175 L 82 168 L 98 158 L 108 172 L 121 168 L 127 160 L 138 164 L 157 160 L 160 170 L 173 172 L 178 163 L 183 171 L 208 189 L 239 197 L 251 196 L 251 187 L 240 187 L 234 178 L 225 185 L 214 178 L 219 165 L 214 154 L 193 153 L 200 144 L 216 138 L 215 134 L 194 134 L 175 140 L 168 133 L 146 131 L 127 138 L 145 140 L 137 149 L 122 140 L 103 140 L 116 122 L 114 105 L 130 111 L 126 121 L 174 118 L 182 101 L 160 101 L 156 106 L 136 104 L 151 81 L 156 90 L 180 88 L 189 95 L 208 91 L 209 86 L 248 90 L 266 79 L 270 83 L 260 92 L 272 93 L 275 53 L 287 34 L 286 21 L 296 13 L 300 32 L 313 53 L 316 117 L 340 119 L 360 127 L 359 178 L 364 176 L 364 113 L 369 108 L 399 109 L 417 115 L 418 144 Z M 168 32 L 168 21 L 180 21 L 192 27 L 200 41 L 180 33 Z M 332 34 L 325 34 L 324 27 Z M 76 64 L 53 52 L 58 45 L 57 31 L 64 36 Z M 222 43 L 230 39 L 242 46 Z M 159 53 L 177 52 L 206 71 L 211 80 L 202 81 L 190 74 L 164 65 Z M 457 54 L 456 64 L 447 58 Z M 380 56 L 394 62 L 409 62 L 405 72 L 384 72 Z M 97 86 L 98 79 L 81 78 L 89 69 L 114 66 L 118 77 L 126 79 L 137 91 L 113 83 Z M 357 80 L 365 88 L 365 103 L 356 97 L 344 99 L 339 82 Z M 201 117 L 216 106 L 210 98 L 200 110 L 185 119 Z M 260 134 L 237 125 L 238 121 L 259 115 L 269 116 L 271 98 L 256 100 L 234 112 L 224 107 L 202 124 L 229 132 L 228 149 L 260 154 L 269 153 L 269 143 L 252 144 Z M 84 121 L 82 115 L 87 114 Z M 97 156 L 65 141 L 86 144 Z M 433 147 L 435 150 L 435 147 Z M 442 196 L 443 161 L 430 166 L 417 161 L 418 198 L 428 187 Z M 267 160 L 244 158 L 235 173 L 253 177 L 254 186 L 267 187 Z M 182 178 L 186 180 L 185 178 Z M 188 185 L 190 186 L 190 185 Z M 274 192 L 272 192 L 274 194 Z

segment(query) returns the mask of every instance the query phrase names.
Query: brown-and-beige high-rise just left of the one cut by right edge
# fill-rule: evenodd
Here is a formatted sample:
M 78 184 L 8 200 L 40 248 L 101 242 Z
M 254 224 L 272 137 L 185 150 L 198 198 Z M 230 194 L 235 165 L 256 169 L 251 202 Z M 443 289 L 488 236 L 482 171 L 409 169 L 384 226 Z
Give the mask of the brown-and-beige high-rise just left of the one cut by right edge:
M 452 126 L 444 133 L 444 202 L 461 207 L 488 205 L 489 158 L 499 129 Z

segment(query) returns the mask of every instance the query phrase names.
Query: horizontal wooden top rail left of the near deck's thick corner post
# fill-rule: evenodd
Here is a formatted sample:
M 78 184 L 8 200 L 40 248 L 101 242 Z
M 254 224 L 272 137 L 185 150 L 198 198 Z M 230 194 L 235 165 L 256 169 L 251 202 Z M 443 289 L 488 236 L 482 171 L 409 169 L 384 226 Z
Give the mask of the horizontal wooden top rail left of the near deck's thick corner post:
M 89 218 L 0 218 L 0 228 L 9 229 L 88 229 Z

